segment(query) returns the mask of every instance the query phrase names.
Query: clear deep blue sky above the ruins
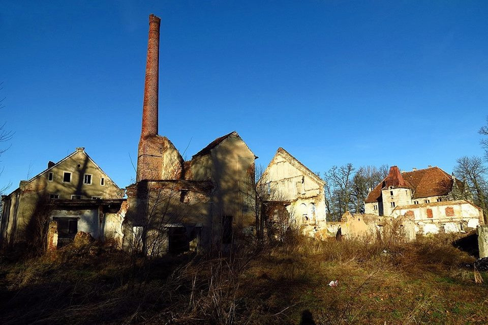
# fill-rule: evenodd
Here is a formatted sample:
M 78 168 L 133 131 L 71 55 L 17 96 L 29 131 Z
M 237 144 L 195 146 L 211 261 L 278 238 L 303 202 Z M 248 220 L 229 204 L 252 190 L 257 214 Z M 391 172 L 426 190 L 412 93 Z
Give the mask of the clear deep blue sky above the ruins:
M 148 15 L 160 16 L 160 134 L 190 159 L 236 130 L 266 165 L 314 171 L 481 155 L 488 2 L 0 4 L 0 183 L 84 146 L 121 187 L 140 135 Z M 183 151 L 188 146 L 185 153 Z

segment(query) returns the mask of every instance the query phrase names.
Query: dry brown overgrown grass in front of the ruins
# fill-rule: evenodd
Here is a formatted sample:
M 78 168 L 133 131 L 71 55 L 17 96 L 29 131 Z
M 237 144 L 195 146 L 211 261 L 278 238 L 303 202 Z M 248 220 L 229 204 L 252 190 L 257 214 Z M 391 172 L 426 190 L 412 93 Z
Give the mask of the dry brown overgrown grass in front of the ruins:
M 247 243 L 231 256 L 134 264 L 93 244 L 2 262 L 0 323 L 486 323 L 486 273 L 477 284 L 474 258 L 453 240 L 295 237 L 259 252 Z

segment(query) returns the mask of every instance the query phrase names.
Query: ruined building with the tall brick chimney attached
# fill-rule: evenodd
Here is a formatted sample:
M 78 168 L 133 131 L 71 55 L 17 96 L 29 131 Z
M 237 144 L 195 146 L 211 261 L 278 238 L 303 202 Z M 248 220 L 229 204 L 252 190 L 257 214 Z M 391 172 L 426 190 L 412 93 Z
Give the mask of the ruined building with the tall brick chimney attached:
M 231 132 L 185 162 L 158 134 L 159 29 L 160 18 L 150 15 L 137 177 L 127 187 L 124 246 L 149 255 L 225 247 L 253 231 L 247 184 L 257 157 Z

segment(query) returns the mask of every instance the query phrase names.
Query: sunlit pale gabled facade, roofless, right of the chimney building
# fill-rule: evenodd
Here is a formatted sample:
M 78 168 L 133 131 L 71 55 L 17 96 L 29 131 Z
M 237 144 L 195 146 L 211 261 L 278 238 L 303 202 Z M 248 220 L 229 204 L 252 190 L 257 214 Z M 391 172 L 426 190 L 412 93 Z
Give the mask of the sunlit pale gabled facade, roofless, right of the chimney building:
M 325 226 L 324 181 L 283 148 L 271 159 L 259 184 L 265 201 L 283 204 L 303 233 L 313 235 Z

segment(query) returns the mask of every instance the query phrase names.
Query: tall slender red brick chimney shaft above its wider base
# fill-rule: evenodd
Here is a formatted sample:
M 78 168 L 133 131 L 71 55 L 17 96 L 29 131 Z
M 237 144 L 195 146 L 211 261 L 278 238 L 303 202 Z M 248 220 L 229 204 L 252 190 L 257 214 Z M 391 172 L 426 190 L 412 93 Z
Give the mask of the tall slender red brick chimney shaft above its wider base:
M 149 15 L 146 78 L 142 107 L 141 138 L 158 134 L 159 26 L 161 18 Z

